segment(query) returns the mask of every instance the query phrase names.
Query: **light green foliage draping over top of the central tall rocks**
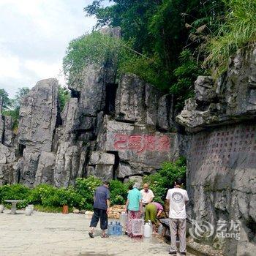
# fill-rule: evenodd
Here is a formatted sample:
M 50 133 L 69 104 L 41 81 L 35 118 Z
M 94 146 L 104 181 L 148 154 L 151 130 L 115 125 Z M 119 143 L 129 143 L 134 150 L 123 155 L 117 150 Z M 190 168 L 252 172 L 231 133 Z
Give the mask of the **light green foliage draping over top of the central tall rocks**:
M 132 49 L 131 42 L 108 37 L 97 31 L 78 37 L 69 43 L 64 57 L 64 74 L 69 84 L 80 83 L 81 72 L 90 64 L 108 64 L 116 61 L 118 75 L 133 73 L 148 83 L 163 87 L 165 74 L 157 56 L 148 58 Z

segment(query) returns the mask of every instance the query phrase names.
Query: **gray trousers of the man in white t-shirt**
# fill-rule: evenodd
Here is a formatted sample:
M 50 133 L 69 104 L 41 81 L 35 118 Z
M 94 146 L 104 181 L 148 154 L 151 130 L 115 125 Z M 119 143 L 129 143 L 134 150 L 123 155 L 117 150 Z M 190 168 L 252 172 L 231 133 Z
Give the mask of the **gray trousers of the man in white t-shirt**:
M 186 219 L 170 219 L 170 252 L 177 252 L 176 238 L 180 241 L 180 252 L 186 252 Z

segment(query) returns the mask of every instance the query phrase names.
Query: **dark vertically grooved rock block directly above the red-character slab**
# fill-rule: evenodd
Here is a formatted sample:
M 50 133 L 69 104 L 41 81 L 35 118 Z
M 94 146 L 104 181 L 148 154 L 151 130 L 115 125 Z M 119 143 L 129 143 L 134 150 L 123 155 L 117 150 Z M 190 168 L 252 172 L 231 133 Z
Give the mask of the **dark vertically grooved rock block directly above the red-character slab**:
M 171 129 L 171 100 L 134 74 L 121 77 L 116 92 L 116 120 Z

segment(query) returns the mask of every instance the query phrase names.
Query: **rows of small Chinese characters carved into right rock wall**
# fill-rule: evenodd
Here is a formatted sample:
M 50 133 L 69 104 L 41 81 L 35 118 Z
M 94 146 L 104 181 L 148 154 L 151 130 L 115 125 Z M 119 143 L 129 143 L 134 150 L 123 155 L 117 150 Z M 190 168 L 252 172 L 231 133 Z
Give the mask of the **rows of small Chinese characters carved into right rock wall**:
M 256 166 L 256 126 L 238 125 L 194 135 L 191 164 L 195 170 L 227 170 L 234 165 Z

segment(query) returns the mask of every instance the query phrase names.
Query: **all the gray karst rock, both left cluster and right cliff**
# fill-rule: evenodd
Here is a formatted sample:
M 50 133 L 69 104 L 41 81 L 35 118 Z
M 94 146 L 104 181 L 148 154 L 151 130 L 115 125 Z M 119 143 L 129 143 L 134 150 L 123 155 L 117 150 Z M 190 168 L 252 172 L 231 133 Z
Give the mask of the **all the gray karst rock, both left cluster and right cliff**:
M 120 37 L 120 29 L 103 29 Z M 116 79 L 116 59 L 70 80 L 60 113 L 58 82 L 41 80 L 23 99 L 18 135 L 1 115 L 0 185 L 67 187 L 78 177 L 141 180 L 187 156 L 188 219 L 234 225 L 240 240 L 198 237 L 225 255 L 256 251 L 256 48 L 239 51 L 217 82 L 200 76 L 195 98 L 174 118 L 173 99 L 133 74 Z M 185 128 L 176 130 L 180 124 Z M 230 226 L 229 226 L 230 227 Z

